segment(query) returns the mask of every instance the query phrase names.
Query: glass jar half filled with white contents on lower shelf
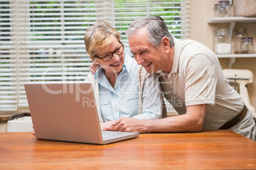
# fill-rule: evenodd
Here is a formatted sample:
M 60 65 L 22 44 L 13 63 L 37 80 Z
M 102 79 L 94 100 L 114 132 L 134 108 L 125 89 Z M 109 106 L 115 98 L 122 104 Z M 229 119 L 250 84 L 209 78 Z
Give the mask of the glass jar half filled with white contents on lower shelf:
M 229 30 L 218 30 L 215 52 L 219 55 L 231 54 L 231 36 L 229 34 Z

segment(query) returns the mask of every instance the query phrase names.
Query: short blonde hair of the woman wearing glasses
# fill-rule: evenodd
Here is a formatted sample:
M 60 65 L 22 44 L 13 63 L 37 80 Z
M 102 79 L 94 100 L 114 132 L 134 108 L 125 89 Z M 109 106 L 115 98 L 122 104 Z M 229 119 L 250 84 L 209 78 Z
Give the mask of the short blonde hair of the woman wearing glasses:
M 97 22 L 90 26 L 85 33 L 83 40 L 85 41 L 85 48 L 89 53 L 90 58 L 93 59 L 95 49 L 104 50 L 113 41 L 113 38 L 120 41 L 120 33 L 110 26 L 108 22 Z

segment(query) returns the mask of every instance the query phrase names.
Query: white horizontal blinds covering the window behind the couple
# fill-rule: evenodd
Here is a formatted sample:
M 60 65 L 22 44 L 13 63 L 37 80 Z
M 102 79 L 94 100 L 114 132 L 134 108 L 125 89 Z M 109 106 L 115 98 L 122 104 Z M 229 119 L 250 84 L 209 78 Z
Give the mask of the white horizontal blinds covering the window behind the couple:
M 0 1 L 0 111 L 28 109 L 24 83 L 83 81 L 91 60 L 83 36 L 97 21 L 122 35 L 141 16 L 161 16 L 169 32 L 189 38 L 189 0 Z

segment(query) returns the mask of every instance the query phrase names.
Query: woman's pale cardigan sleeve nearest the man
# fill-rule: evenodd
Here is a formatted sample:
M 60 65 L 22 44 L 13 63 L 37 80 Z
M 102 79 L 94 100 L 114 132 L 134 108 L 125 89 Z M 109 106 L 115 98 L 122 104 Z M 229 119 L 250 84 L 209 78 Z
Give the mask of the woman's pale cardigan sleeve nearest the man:
M 160 90 L 157 74 L 148 75 L 144 82 L 142 92 L 142 114 L 134 116 L 136 119 L 160 119 L 162 118 L 162 105 L 164 102 Z

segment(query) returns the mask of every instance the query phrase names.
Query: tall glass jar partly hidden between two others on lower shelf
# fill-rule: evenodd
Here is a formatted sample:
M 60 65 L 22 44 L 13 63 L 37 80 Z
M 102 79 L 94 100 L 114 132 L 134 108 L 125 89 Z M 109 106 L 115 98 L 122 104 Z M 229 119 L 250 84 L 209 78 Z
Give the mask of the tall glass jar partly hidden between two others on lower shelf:
M 248 37 L 246 29 L 236 29 L 236 34 L 234 34 L 234 53 L 241 54 L 241 40 L 244 37 Z

